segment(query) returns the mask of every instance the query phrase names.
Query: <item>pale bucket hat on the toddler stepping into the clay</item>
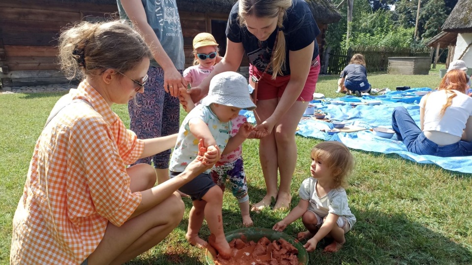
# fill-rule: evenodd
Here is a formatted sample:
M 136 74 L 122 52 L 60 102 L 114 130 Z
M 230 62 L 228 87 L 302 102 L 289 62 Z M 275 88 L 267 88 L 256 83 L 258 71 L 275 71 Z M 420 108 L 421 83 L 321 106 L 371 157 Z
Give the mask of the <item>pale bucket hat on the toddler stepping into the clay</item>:
M 223 72 L 211 79 L 208 95 L 202 104 L 210 106 L 212 103 L 247 110 L 256 108 L 249 96 L 246 78 L 236 72 Z

